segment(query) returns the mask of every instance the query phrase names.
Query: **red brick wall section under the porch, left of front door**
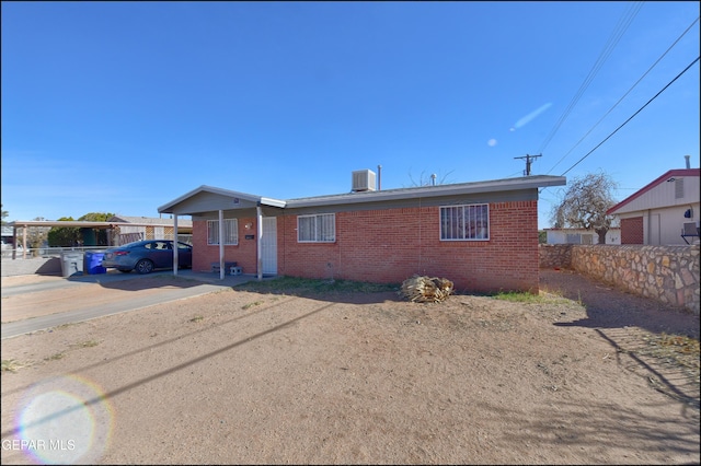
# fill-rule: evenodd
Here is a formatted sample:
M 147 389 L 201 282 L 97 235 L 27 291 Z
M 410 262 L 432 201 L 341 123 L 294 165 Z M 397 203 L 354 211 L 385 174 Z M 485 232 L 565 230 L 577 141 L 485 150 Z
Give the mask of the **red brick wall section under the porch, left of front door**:
M 246 223 L 251 223 L 253 226 L 246 230 Z M 246 234 L 257 235 L 255 218 L 239 219 L 239 244 L 225 246 L 223 257 L 228 263 L 238 263 L 243 273 L 257 273 L 257 242 L 246 240 Z M 207 221 L 193 221 L 193 270 L 210 271 L 211 263 L 218 261 L 219 245 L 207 245 Z

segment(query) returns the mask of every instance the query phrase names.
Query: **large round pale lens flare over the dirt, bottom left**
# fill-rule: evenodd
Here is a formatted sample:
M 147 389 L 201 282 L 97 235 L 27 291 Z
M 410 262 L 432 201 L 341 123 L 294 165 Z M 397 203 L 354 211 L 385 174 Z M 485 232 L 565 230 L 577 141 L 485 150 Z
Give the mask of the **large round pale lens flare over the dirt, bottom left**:
M 34 385 L 19 406 L 19 448 L 42 464 L 90 464 L 104 454 L 112 406 L 94 383 L 78 376 Z

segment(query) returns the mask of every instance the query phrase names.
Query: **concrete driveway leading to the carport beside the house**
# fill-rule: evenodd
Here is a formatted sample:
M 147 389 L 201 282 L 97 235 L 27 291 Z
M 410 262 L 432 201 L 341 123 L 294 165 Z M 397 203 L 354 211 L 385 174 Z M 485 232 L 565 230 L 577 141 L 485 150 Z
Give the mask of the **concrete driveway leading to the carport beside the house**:
M 2 338 L 45 330 L 232 288 L 255 276 L 180 270 L 149 275 L 2 277 Z

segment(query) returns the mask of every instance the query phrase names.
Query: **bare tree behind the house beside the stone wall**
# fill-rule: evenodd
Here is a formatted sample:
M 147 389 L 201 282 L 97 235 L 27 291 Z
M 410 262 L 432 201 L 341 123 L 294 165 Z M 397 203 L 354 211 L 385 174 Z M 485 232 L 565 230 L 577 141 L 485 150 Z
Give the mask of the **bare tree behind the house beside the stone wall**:
M 599 244 L 606 244 L 606 233 L 613 223 L 613 217 L 606 211 L 616 205 L 612 191 L 618 184 L 605 173 L 590 173 L 574 178 L 562 201 L 554 206 L 551 223 L 555 228 L 581 228 L 593 230 L 599 235 Z

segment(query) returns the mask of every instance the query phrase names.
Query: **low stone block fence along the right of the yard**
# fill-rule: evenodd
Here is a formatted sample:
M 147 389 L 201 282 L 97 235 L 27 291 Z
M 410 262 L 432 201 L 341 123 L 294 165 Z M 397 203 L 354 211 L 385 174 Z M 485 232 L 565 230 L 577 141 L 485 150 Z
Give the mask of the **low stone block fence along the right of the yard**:
M 541 268 L 573 269 L 699 315 L 699 245 L 541 244 L 539 254 Z

